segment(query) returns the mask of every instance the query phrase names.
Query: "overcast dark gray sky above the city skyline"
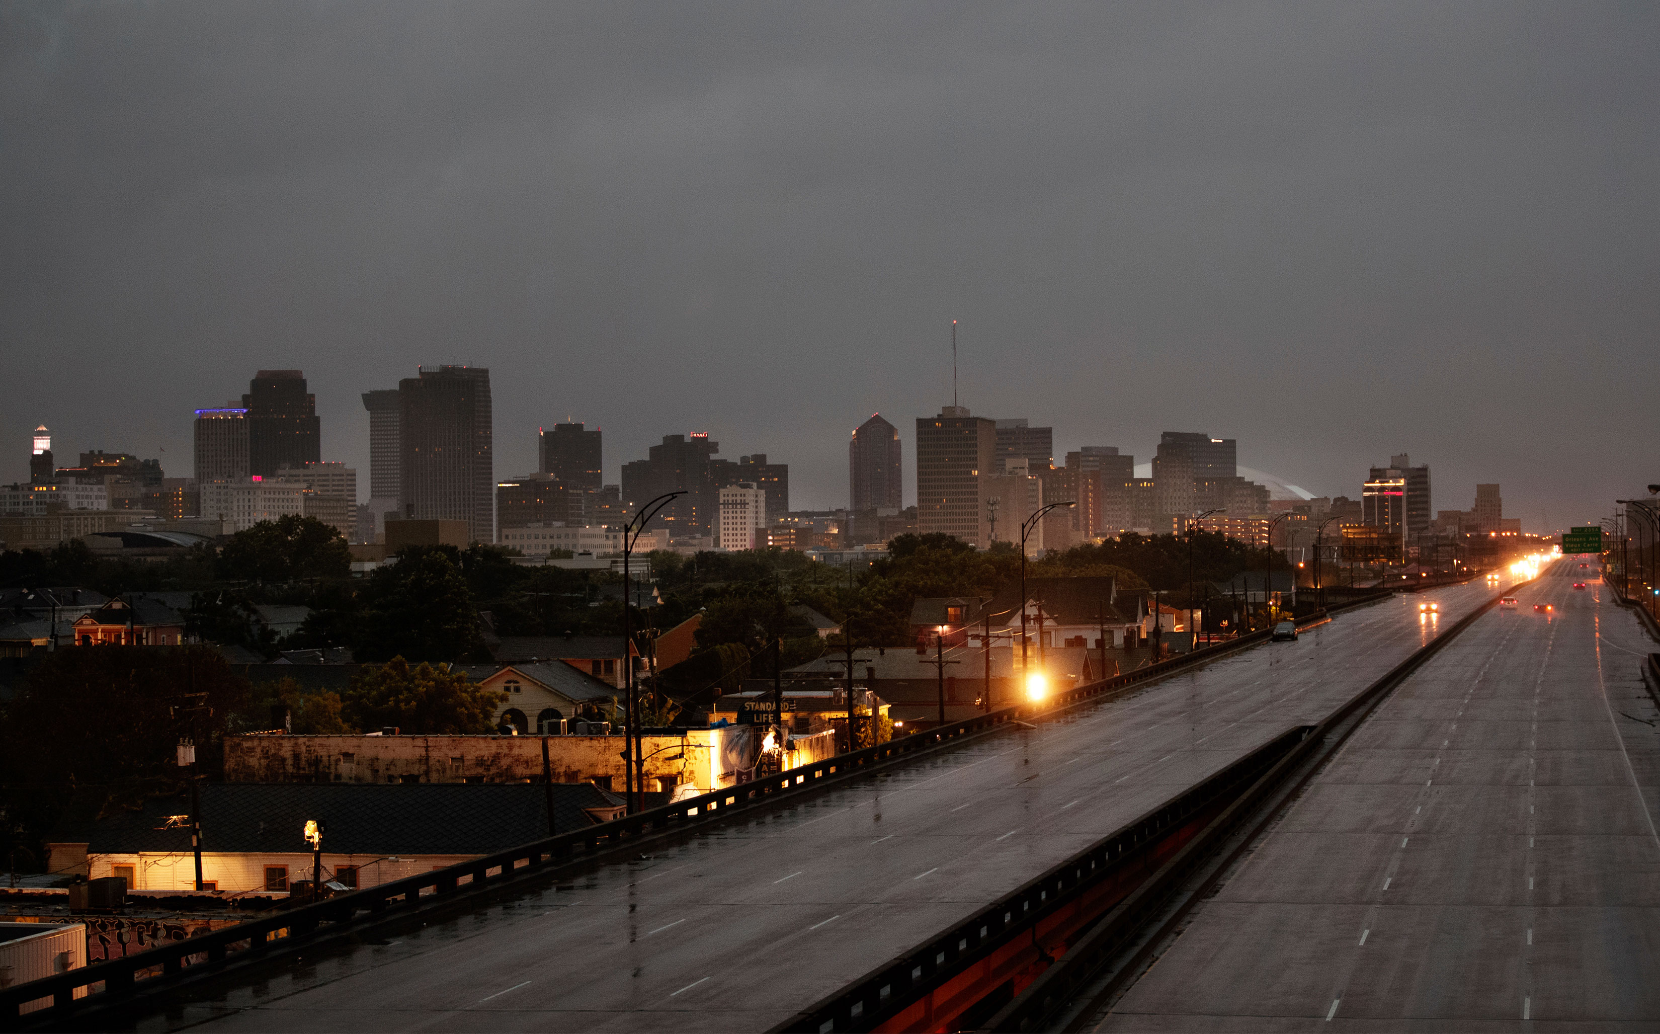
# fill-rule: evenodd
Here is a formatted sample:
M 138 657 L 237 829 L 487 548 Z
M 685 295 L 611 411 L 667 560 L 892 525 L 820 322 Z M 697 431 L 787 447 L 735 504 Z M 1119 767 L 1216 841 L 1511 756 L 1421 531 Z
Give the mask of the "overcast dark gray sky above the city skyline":
M 300 367 L 790 463 L 961 402 L 1531 531 L 1660 481 L 1653 3 L 0 5 L 0 480 Z M 158 450 L 164 450 L 158 453 Z

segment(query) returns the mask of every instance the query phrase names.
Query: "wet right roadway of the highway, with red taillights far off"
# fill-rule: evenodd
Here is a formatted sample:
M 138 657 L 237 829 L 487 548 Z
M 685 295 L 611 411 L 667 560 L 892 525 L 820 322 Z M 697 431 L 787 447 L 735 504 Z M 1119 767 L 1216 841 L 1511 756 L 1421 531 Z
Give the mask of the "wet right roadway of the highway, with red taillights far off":
M 1657 646 L 1594 576 L 1413 674 L 1091 1027 L 1660 1029 Z

